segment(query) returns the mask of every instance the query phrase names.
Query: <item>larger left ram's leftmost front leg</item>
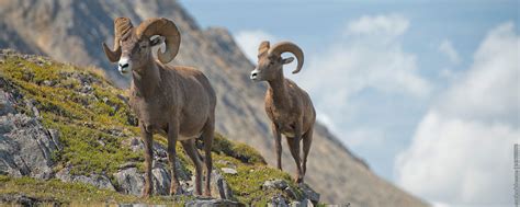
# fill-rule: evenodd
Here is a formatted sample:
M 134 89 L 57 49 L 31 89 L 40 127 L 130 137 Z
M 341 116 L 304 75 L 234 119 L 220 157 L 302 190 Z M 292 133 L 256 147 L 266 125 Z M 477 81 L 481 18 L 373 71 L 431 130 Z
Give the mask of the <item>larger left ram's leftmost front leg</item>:
M 145 186 L 143 188 L 143 197 L 149 197 L 154 189 L 154 182 L 151 181 L 151 162 L 154 159 L 151 128 L 140 125 L 140 138 L 145 146 Z

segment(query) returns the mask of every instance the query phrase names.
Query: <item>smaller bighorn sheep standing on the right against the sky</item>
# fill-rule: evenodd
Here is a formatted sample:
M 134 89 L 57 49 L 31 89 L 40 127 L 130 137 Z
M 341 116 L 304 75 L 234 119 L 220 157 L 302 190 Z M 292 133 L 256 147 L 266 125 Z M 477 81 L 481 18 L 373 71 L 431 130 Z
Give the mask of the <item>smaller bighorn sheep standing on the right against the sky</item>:
M 293 81 L 283 77 L 283 65 L 294 60 L 282 58 L 282 54 L 292 53 L 298 65 L 293 73 L 299 72 L 304 62 L 302 49 L 293 43 L 282 42 L 270 48 L 269 42 L 262 42 L 258 48 L 258 66 L 251 72 L 251 80 L 267 81 L 265 112 L 271 119 L 274 134 L 276 164 L 282 170 L 281 134 L 285 138 L 297 166 L 296 182 L 302 183 L 307 171 L 307 156 L 313 142 L 316 112 L 308 94 Z M 299 141 L 303 140 L 303 158 L 299 156 Z M 303 162 L 301 162 L 303 159 Z

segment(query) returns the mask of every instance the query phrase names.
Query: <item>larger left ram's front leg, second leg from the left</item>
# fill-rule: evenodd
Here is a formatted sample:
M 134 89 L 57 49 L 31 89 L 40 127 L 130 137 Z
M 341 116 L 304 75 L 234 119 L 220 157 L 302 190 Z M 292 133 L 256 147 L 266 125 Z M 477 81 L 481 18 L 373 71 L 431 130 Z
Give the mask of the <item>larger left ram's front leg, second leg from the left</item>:
M 179 136 L 179 124 L 176 120 L 170 122 L 168 124 L 168 161 L 170 163 L 170 172 L 171 172 L 171 184 L 170 184 L 170 195 L 182 194 L 182 187 L 179 184 L 179 177 L 177 175 L 177 168 L 176 168 L 176 146 L 177 146 L 177 138 Z

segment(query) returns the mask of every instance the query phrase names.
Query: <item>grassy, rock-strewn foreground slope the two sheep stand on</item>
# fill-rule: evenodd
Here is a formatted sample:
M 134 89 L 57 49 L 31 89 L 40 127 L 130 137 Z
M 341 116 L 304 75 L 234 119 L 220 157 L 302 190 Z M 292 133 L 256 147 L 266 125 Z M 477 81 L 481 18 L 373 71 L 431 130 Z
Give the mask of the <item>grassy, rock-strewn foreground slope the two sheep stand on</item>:
M 212 195 L 216 199 L 192 197 L 193 164 L 181 146 L 176 168 L 185 194 L 173 199 L 137 199 L 144 185 L 143 142 L 125 104 L 127 97 L 103 78 L 102 71 L 0 50 L 0 202 L 70 204 L 92 197 L 110 203 L 302 206 L 319 200 L 319 194 L 307 185 L 297 185 L 287 173 L 265 165 L 253 148 L 221 135 L 213 145 L 216 168 L 212 172 Z M 168 195 L 171 175 L 166 139 L 156 136 L 155 140 L 155 193 Z M 97 189 L 77 198 L 67 192 L 49 194 L 60 191 L 53 187 L 57 185 L 78 189 L 74 183 L 102 193 Z M 109 200 L 111 197 L 117 199 Z

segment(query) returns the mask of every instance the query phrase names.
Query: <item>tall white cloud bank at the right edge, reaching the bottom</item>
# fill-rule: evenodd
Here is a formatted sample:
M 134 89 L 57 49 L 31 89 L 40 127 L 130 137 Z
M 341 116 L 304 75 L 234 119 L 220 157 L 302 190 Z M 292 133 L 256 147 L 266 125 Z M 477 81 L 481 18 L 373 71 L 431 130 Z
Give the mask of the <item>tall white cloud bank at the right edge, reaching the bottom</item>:
M 400 186 L 439 204 L 512 205 L 519 46 L 512 23 L 489 32 L 471 69 L 439 97 L 397 157 Z

